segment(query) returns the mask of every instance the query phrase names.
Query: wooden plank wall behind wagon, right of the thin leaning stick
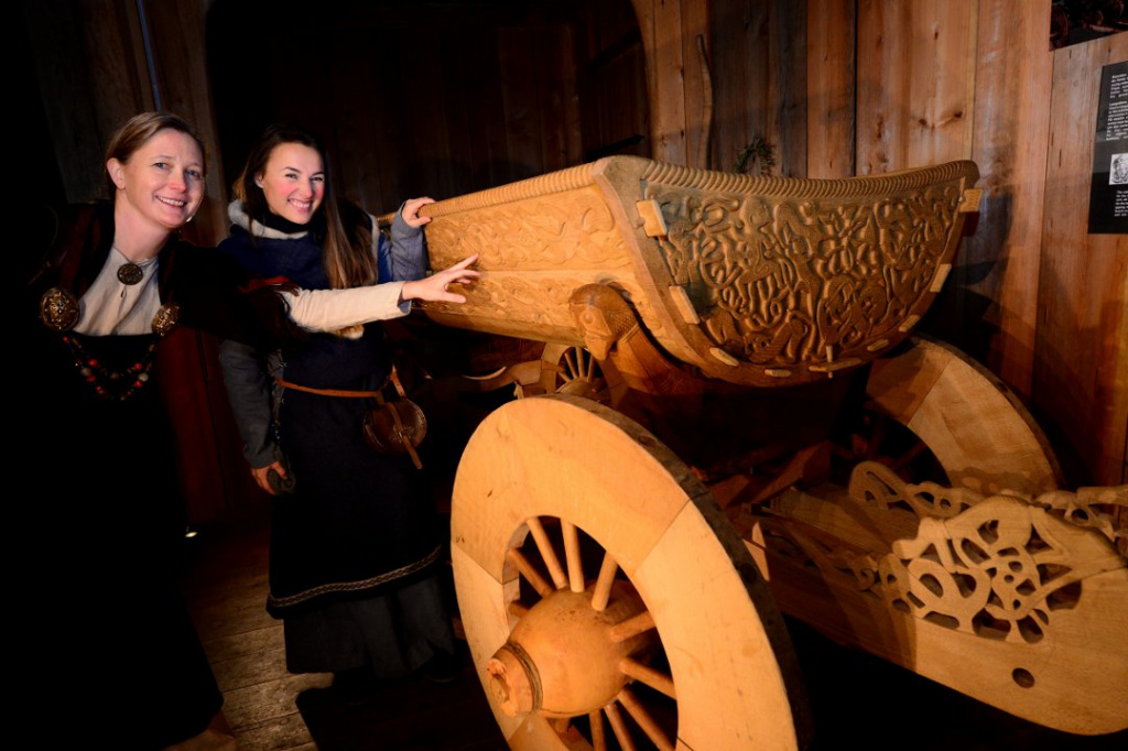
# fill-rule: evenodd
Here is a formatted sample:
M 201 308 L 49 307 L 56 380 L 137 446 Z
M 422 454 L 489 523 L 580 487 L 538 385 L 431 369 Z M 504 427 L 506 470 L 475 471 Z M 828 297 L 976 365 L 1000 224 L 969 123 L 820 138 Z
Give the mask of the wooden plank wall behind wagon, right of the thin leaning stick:
M 750 134 L 772 134 L 779 174 L 973 159 L 977 232 L 922 330 L 1025 401 L 1067 481 L 1125 483 L 1128 257 L 1125 238 L 1086 235 L 1086 186 L 1100 68 L 1128 56 L 1128 34 L 1051 51 L 1049 3 L 1033 0 L 805 8 L 796 32 L 776 0 L 710 3 L 715 162 L 730 168 Z M 804 90 L 788 50 L 804 50 L 805 103 L 776 94 Z

